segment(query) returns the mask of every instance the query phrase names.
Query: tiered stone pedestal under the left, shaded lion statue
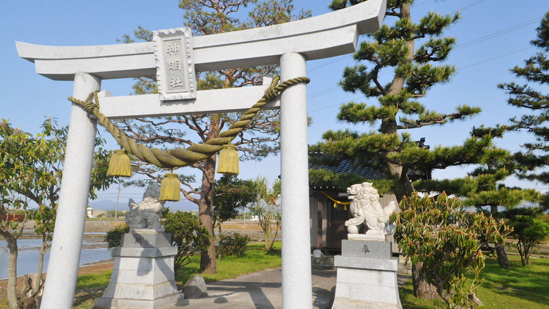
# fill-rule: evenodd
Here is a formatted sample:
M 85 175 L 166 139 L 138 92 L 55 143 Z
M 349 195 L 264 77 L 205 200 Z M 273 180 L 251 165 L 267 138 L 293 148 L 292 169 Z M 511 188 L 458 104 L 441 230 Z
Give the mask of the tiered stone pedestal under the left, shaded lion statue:
M 173 275 L 171 234 L 164 229 L 136 228 L 124 234 L 120 247 L 111 249 L 113 274 L 99 308 L 159 308 L 183 300 Z

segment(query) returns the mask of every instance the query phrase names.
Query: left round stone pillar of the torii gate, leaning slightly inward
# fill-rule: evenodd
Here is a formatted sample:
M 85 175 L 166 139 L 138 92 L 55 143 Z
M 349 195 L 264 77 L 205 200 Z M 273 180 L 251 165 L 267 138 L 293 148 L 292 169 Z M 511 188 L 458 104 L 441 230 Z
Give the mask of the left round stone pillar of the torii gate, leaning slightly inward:
M 99 77 L 78 72 L 74 77 L 72 96 L 86 98 L 90 92 L 99 90 L 100 87 Z M 72 104 L 59 194 L 59 205 L 63 206 L 59 206 L 57 209 L 55 237 L 49 250 L 50 262 L 48 263 L 46 286 L 44 286 L 44 289 L 48 290 L 57 288 L 57 293 L 43 294 L 43 308 L 65 307 L 60 304 L 72 307 L 86 223 L 93 148 L 96 141 L 96 122 L 95 119 L 88 117 L 86 110 L 79 105 Z M 77 207 L 72 205 L 77 205 Z M 59 286 L 63 286 L 63 288 L 59 288 Z

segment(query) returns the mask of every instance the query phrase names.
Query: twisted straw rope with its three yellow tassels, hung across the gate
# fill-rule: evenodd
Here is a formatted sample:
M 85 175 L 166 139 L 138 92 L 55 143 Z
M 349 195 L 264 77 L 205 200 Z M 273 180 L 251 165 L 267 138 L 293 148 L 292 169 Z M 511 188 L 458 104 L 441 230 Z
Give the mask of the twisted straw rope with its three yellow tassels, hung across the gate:
M 88 113 L 95 115 L 99 123 L 105 127 L 122 149 L 115 150 L 109 163 L 108 175 L 129 177 L 131 176 L 130 159 L 126 153 L 135 155 L 139 160 L 156 165 L 161 168 L 172 170 L 173 168 L 189 166 L 195 162 L 208 159 L 211 155 L 220 152 L 218 173 L 233 173 L 238 174 L 238 153 L 236 146 L 231 142 L 242 132 L 248 123 L 255 117 L 257 112 L 267 103 L 268 100 L 274 99 L 281 94 L 284 89 L 296 83 L 309 83 L 308 77 L 295 77 L 290 80 L 280 83 L 280 77 L 273 78 L 271 85 L 265 90 L 265 94 L 251 108 L 244 113 L 237 122 L 234 122 L 226 131 L 219 134 L 218 137 L 212 138 L 209 141 L 201 144 L 194 144 L 188 148 L 176 148 L 167 151 L 158 148 L 148 148 L 143 144 L 138 144 L 133 139 L 129 138 L 124 132 L 120 131 L 101 111 L 99 110 L 98 91 L 94 91 L 88 95 L 86 100 L 79 100 L 74 97 L 69 97 L 70 102 L 82 106 Z M 235 160 L 236 158 L 236 160 Z M 174 173 L 167 173 L 162 181 L 160 200 L 180 200 L 179 181 Z M 165 181 L 171 183 L 168 188 Z M 174 186 L 177 186 L 175 188 Z

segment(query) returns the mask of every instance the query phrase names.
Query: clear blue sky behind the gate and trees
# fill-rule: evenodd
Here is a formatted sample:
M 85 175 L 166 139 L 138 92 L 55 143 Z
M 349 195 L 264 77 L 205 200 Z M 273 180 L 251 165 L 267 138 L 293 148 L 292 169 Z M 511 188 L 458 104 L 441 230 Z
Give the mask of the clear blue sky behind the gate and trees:
M 328 3 L 325 0 L 294 0 L 296 8 L 309 8 L 313 15 L 328 13 Z M 457 48 L 447 61 L 456 65 L 457 72 L 450 83 L 435 87 L 422 102 L 429 109 L 444 113 L 451 113 L 460 104 L 480 106 L 483 113 L 466 122 L 410 131 L 414 139 L 425 137 L 426 144 L 432 146 L 460 144 L 473 126 L 506 123 L 509 117 L 525 112 L 508 106 L 506 94 L 496 85 L 516 81 L 509 69 L 535 53 L 529 41 L 535 37 L 535 28 L 549 5 L 540 0 L 418 0 L 412 7 L 412 18 L 418 19 L 430 10 L 446 14 L 460 9 L 461 20 L 445 33 L 457 37 Z M 66 97 L 72 94 L 72 82 L 52 81 L 37 75 L 32 63 L 18 57 L 15 41 L 58 46 L 115 44 L 116 38 L 133 33 L 139 25 L 149 30 L 180 27 L 182 15 L 183 10 L 173 0 L 3 2 L 0 26 L 5 31 L 0 53 L 4 93 L 0 100 L 0 117 L 31 133 L 40 130 L 46 116 L 57 117 L 63 125 L 69 119 L 70 103 Z M 395 19 L 386 18 L 385 23 L 394 23 Z M 363 99 L 358 93 L 344 93 L 337 85 L 345 66 L 353 63 L 351 55 L 307 62 L 307 76 L 312 80 L 307 87 L 307 109 L 313 120 L 308 133 L 310 144 L 318 142 L 328 128 L 349 127 L 346 123 L 338 123 L 335 115 L 341 103 Z M 127 95 L 132 83 L 132 80 L 105 80 L 102 89 L 114 95 Z M 354 129 L 373 130 L 369 126 L 355 126 Z M 527 134 L 513 133 L 498 145 L 516 151 L 529 139 Z M 112 148 L 115 147 L 113 144 Z M 435 171 L 434 177 L 460 177 L 471 169 L 456 167 Z M 273 181 L 279 175 L 279 158 L 241 162 L 240 171 L 242 178 L 262 175 Z M 547 189 L 540 184 L 513 179 L 508 183 Z M 116 199 L 116 191 L 113 187 L 100 193 L 99 199 Z M 124 188 L 121 203 L 128 197 L 141 198 L 142 192 L 142 189 Z

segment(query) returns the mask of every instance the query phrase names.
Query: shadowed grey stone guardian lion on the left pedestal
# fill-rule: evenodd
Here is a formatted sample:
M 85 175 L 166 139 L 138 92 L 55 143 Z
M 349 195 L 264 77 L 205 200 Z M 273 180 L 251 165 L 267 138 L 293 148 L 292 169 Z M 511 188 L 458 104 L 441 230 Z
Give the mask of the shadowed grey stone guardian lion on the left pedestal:
M 143 193 L 143 200 L 137 204 L 128 201 L 130 212 L 126 214 L 126 224 L 130 228 L 161 228 L 160 214 L 165 201 L 160 201 L 160 187 L 149 186 Z

